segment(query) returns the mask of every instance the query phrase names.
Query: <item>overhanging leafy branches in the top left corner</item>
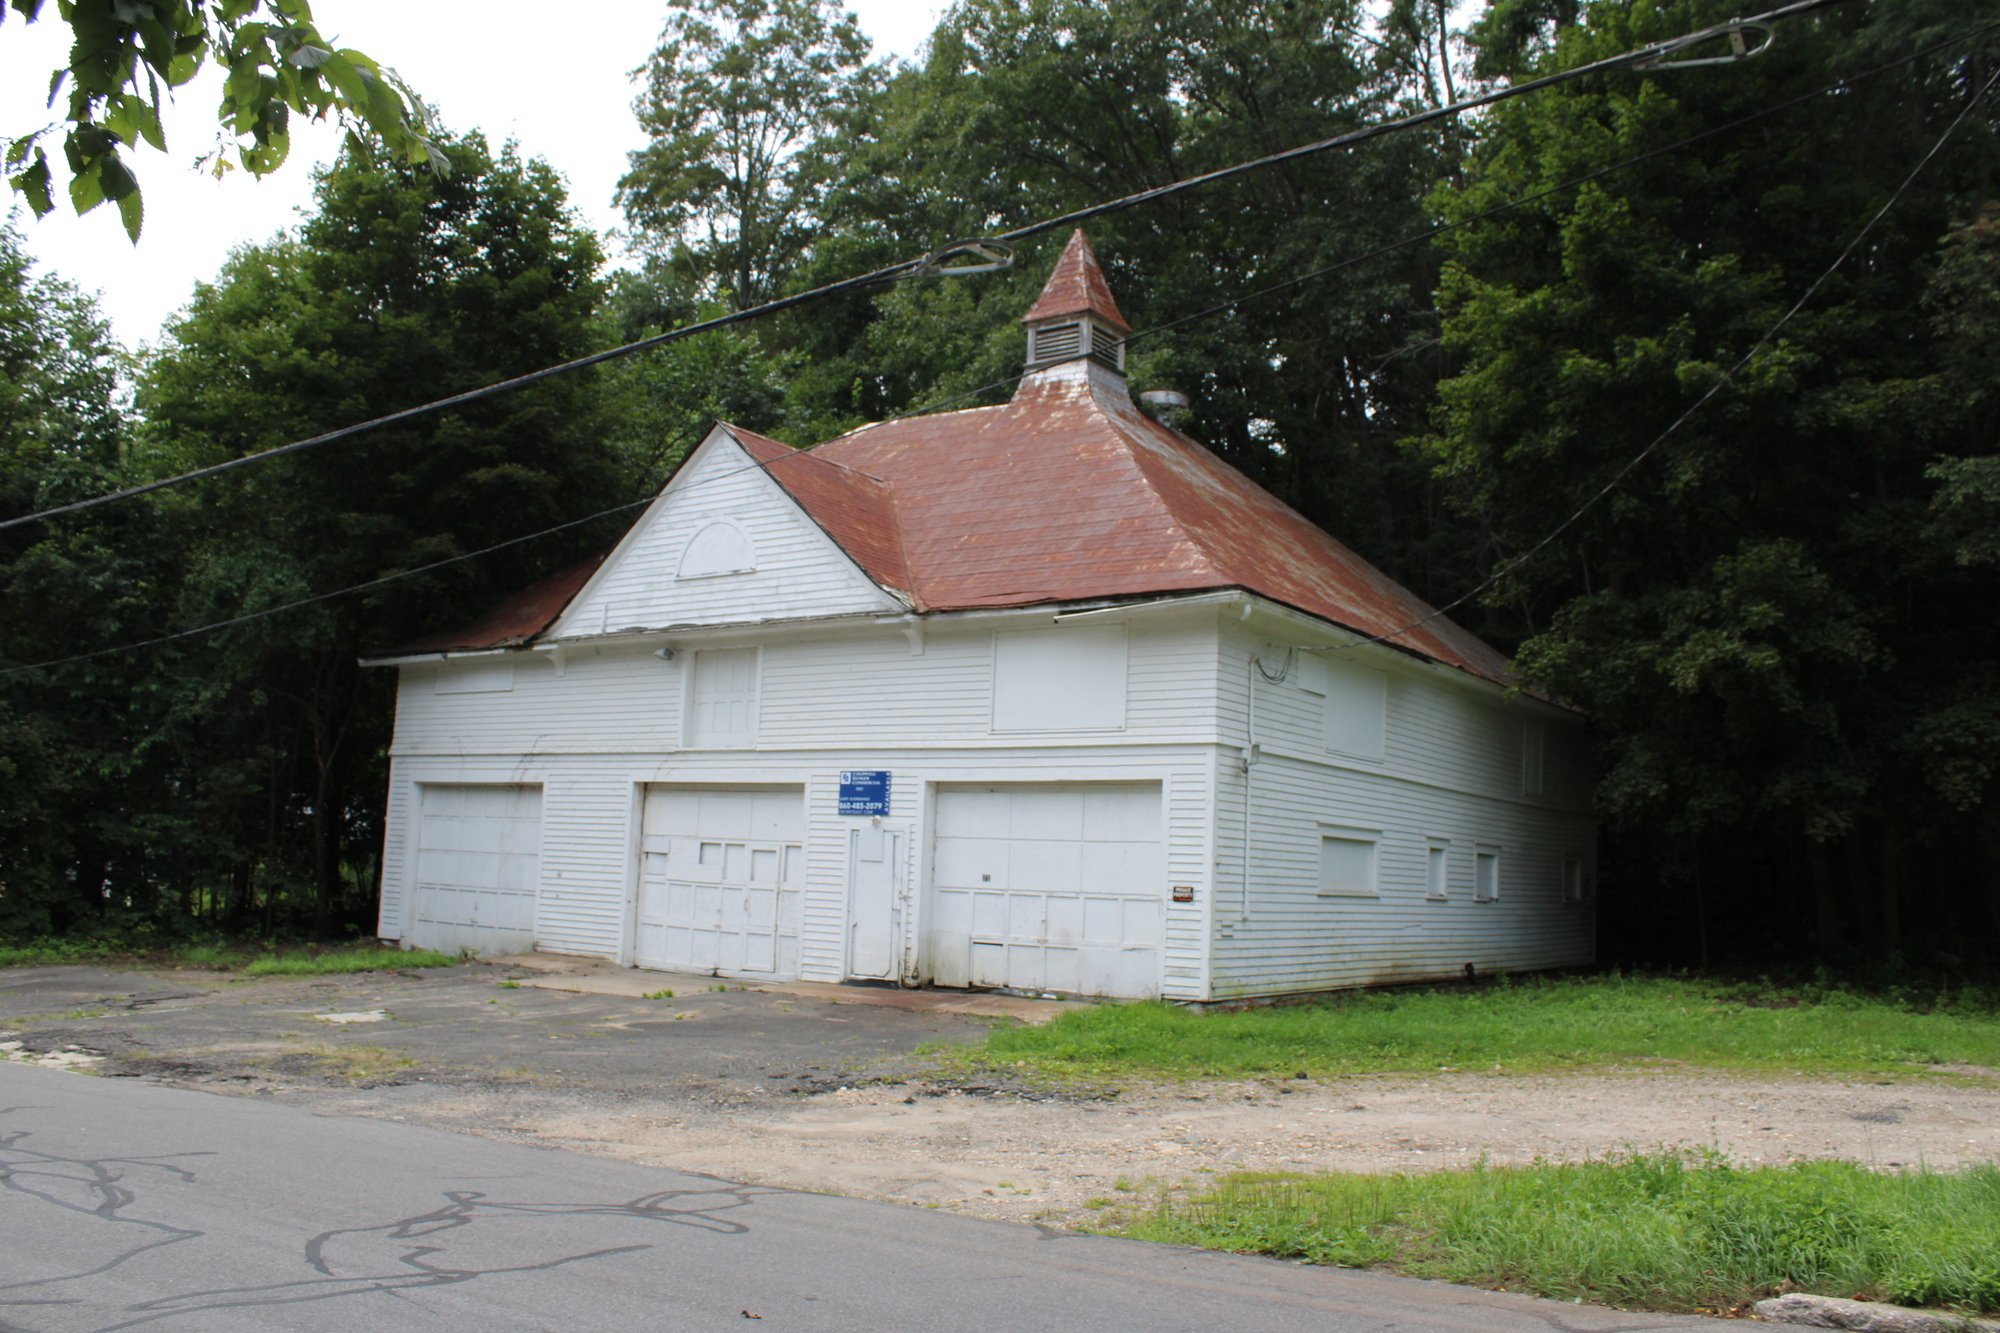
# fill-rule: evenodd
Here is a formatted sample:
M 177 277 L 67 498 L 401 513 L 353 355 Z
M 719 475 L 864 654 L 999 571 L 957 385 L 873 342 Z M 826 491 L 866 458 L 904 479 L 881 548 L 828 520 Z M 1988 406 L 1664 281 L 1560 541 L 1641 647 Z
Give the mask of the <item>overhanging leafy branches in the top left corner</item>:
M 8 0 L 8 6 L 32 24 L 44 0 Z M 216 118 L 256 176 L 284 164 L 294 114 L 352 118 L 396 158 L 448 168 L 422 100 L 364 52 L 334 50 L 322 40 L 308 0 L 58 0 L 58 8 L 76 38 L 70 64 L 48 82 L 50 104 L 68 84 L 62 150 L 70 204 L 90 212 L 110 200 L 132 240 L 144 210 L 138 178 L 120 148 L 144 140 L 164 152 L 160 88 L 188 84 L 204 64 L 226 70 Z M 46 132 L 24 134 L 6 148 L 8 184 L 36 216 L 56 206 L 56 178 L 38 142 Z M 226 168 L 220 148 L 214 164 Z

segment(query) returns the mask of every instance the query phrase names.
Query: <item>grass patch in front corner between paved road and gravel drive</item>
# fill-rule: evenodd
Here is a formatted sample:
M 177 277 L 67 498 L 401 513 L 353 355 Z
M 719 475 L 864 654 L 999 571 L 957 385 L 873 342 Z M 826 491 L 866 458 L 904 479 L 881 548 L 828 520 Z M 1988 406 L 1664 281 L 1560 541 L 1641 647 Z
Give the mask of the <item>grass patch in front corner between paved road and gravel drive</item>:
M 1124 1233 L 1626 1309 L 1728 1313 L 1812 1291 L 2000 1311 L 2000 1165 L 1880 1175 L 1658 1151 L 1434 1175 L 1236 1175 Z

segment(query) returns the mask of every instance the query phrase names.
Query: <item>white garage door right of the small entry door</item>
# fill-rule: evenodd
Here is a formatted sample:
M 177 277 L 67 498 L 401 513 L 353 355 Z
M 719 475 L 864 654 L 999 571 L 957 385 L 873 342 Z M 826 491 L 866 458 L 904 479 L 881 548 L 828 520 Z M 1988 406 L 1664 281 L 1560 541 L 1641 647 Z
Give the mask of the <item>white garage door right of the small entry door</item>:
M 938 789 L 938 985 L 1160 993 L 1158 783 Z

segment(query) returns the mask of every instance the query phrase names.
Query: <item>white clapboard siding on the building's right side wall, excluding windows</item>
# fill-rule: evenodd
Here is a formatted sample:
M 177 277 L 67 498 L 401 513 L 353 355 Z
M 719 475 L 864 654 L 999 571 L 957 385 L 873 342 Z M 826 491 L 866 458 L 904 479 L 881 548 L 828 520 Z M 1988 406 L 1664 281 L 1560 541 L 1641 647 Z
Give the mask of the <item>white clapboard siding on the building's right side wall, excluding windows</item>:
M 1260 759 L 1224 749 L 1218 783 L 1218 877 L 1212 995 L 1274 995 L 1586 963 L 1594 911 L 1566 903 L 1564 861 L 1594 883 L 1588 751 L 1580 727 L 1544 729 L 1544 789 L 1522 793 L 1520 707 L 1500 691 L 1458 687 L 1400 669 L 1388 654 L 1356 660 L 1388 671 L 1378 761 L 1328 755 L 1320 699 L 1298 677 L 1254 679 Z M 1224 731 L 1248 743 L 1252 664 L 1270 675 L 1286 646 L 1224 630 Z M 1490 699 L 1482 699 L 1490 693 Z M 1248 783 L 1248 789 L 1246 789 Z M 1244 877 L 1244 801 L 1250 857 Z M 1376 897 L 1320 893 L 1320 839 L 1376 843 Z M 1428 849 L 1446 847 L 1448 897 L 1426 897 Z M 1500 857 L 1500 895 L 1474 903 L 1474 853 Z

